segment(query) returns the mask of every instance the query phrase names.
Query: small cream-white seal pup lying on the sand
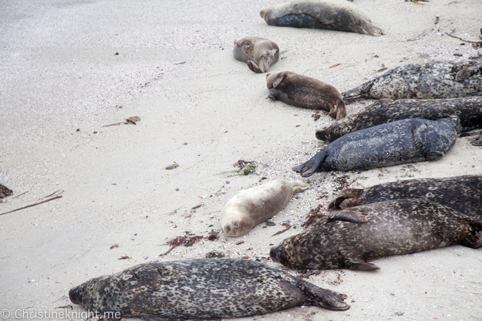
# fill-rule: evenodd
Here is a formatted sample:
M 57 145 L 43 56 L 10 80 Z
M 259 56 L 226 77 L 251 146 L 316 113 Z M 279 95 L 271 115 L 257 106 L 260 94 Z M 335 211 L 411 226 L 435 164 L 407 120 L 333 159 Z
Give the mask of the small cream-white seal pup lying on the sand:
M 241 190 L 222 208 L 221 227 L 229 236 L 242 236 L 280 212 L 291 197 L 309 187 L 304 181 L 275 179 Z

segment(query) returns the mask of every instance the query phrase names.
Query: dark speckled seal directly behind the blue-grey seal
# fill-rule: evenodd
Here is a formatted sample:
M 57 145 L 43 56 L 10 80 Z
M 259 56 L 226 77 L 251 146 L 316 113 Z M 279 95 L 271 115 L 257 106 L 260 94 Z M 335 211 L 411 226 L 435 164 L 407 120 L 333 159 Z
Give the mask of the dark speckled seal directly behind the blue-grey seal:
M 325 142 L 333 142 L 339 137 L 379 124 L 395 122 L 407 118 L 439 120 L 458 116 L 461 132 L 482 128 L 482 97 L 448 99 L 381 99 L 363 111 L 348 115 L 324 129 L 316 131 L 316 137 Z

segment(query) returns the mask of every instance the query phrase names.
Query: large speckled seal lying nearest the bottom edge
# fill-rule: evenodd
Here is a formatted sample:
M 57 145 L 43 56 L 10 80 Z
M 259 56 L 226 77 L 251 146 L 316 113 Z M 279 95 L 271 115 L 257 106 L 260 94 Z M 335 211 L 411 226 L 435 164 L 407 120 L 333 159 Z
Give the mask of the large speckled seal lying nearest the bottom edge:
M 337 311 L 350 307 L 345 294 L 233 258 L 135 265 L 88 280 L 72 288 L 69 297 L 91 311 L 157 320 L 241 318 L 300 305 Z

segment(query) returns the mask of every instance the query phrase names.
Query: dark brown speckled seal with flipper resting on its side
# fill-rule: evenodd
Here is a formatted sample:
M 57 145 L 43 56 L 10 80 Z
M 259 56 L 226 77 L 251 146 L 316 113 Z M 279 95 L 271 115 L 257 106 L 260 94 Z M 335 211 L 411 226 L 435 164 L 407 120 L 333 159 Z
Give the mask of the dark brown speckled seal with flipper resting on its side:
M 482 218 L 426 199 L 396 199 L 331 212 L 271 248 L 291 269 L 379 269 L 368 261 L 451 245 L 482 245 Z

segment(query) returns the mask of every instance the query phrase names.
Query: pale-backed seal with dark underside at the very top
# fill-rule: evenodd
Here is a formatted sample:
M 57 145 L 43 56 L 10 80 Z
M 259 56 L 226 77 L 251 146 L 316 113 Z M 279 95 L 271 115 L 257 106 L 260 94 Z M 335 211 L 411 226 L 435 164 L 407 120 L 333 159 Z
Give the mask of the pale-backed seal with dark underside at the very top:
M 346 0 L 293 0 L 260 11 L 269 25 L 358 32 L 381 36 L 384 30 Z

